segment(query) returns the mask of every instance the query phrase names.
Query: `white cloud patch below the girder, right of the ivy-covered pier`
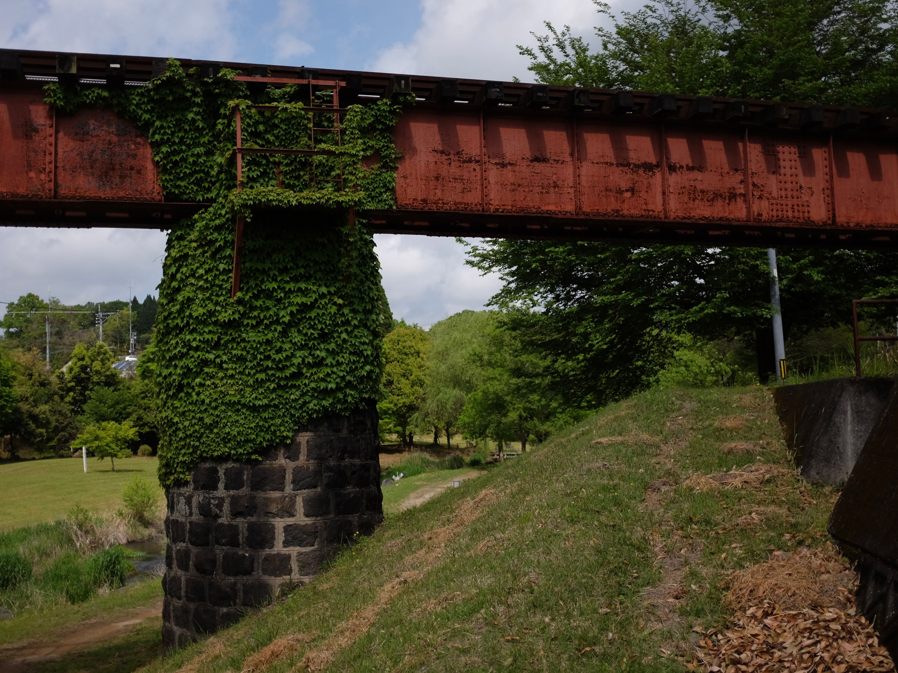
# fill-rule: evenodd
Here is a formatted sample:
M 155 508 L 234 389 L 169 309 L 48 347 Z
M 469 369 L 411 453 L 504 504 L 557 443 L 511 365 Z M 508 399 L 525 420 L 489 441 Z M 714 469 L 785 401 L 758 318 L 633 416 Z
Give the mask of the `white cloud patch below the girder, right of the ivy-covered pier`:
M 429 328 L 464 309 L 479 310 L 497 293 L 496 274 L 464 265 L 464 246 L 452 238 L 378 234 L 383 289 L 393 318 Z

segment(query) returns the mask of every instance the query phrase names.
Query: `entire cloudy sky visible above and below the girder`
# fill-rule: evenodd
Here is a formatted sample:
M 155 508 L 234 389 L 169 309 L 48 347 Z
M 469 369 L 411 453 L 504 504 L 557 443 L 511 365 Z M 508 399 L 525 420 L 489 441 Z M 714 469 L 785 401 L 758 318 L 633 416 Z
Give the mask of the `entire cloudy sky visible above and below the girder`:
M 633 4 L 619 0 L 612 4 Z M 591 36 L 592 0 L 0 0 L 0 48 L 347 68 L 477 79 L 531 78 L 516 44 L 542 22 Z M 155 294 L 165 234 L 0 228 L 0 301 Z M 378 235 L 393 314 L 427 327 L 480 309 L 496 277 L 464 266 L 452 239 Z M 48 290 L 49 288 L 49 290 Z M 3 311 L 0 304 L 0 313 Z

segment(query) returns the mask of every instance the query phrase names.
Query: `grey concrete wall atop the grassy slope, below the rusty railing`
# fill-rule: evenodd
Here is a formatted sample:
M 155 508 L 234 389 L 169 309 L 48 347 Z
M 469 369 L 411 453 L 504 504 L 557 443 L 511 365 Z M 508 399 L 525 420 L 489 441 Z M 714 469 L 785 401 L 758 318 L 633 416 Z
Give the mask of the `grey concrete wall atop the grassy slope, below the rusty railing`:
M 773 390 L 779 422 L 801 475 L 844 484 L 885 408 L 894 380 L 831 379 Z

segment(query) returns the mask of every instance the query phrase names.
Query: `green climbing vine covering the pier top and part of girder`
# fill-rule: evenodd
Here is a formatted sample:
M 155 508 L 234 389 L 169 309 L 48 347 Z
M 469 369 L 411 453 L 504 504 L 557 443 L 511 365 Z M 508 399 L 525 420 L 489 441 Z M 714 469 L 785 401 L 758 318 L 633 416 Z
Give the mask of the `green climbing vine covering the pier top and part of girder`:
M 369 404 L 383 366 L 374 240 L 347 208 L 392 207 L 392 127 L 408 101 L 350 106 L 339 144 L 332 115 L 316 115 L 330 130 L 315 132 L 315 149 L 332 155 L 244 156 L 238 190 L 234 109 L 247 147 L 309 148 L 311 116 L 297 87 L 251 92 L 233 74 L 199 79 L 172 60 L 145 87 L 46 90 L 58 112 L 109 106 L 133 120 L 166 199 L 208 203 L 169 234 L 142 363 L 159 403 L 163 485 L 188 479 L 202 459 L 258 458 L 316 417 Z M 236 214 L 247 224 L 232 299 Z

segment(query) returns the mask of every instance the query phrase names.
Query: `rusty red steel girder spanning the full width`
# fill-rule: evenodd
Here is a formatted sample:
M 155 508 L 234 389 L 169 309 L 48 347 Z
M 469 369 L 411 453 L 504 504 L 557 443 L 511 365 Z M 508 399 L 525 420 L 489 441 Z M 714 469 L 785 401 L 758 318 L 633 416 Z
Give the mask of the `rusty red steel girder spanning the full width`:
M 741 245 L 898 243 L 898 116 L 874 109 L 280 66 L 339 105 L 413 93 L 394 130 L 396 207 L 374 232 Z M 73 65 L 74 64 L 74 65 Z M 110 110 L 57 113 L 58 78 L 139 85 L 164 59 L 0 52 L 0 224 L 166 229 L 146 139 Z M 203 70 L 206 68 L 207 70 Z M 262 76 L 264 75 L 264 76 Z M 336 104 L 336 103 L 335 103 Z

